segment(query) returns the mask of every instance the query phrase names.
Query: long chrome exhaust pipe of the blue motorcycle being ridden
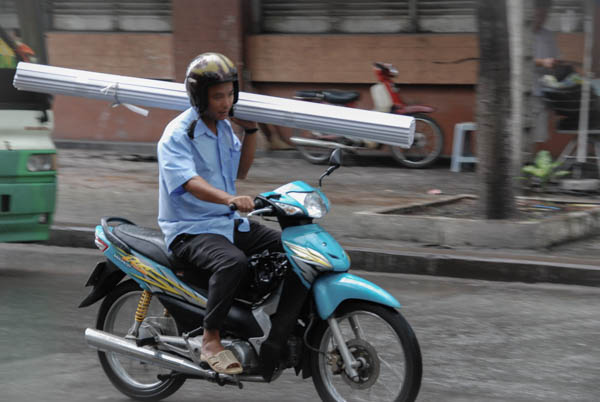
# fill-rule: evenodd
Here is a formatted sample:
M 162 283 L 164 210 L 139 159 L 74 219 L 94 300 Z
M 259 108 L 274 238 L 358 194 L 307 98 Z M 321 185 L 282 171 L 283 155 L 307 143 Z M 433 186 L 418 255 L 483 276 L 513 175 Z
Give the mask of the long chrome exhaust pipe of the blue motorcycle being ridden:
M 229 375 L 217 374 L 212 370 L 205 370 L 189 360 L 179 356 L 158 350 L 141 348 L 133 341 L 109 334 L 108 332 L 99 331 L 93 328 L 86 328 L 85 340 L 89 346 L 104 352 L 115 352 L 146 363 L 164 367 L 178 373 L 193 375 L 207 380 L 237 384 L 237 381 L 235 381 L 233 377 Z

